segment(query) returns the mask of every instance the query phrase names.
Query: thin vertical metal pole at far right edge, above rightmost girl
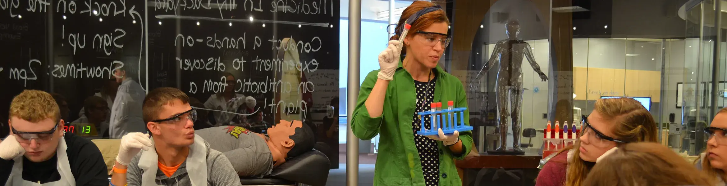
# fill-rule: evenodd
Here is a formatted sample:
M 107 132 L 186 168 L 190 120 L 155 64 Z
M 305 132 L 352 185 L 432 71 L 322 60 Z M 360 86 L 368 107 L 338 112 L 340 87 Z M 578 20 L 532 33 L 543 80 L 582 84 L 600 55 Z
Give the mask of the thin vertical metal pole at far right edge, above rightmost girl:
M 717 36 L 715 36 L 715 52 L 712 54 L 712 91 L 710 92 L 710 117 L 715 116 L 717 112 L 717 89 L 719 89 L 719 75 L 720 75 L 720 48 L 722 44 L 722 7 L 720 6 L 722 0 L 715 1 L 715 29 L 717 29 Z

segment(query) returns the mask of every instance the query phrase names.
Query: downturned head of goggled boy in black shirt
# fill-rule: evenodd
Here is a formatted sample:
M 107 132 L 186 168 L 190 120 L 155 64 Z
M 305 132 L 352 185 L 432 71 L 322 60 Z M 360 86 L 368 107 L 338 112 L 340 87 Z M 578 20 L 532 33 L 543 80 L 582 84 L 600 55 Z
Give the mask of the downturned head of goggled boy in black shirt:
M 10 103 L 10 134 L 25 149 L 25 158 L 33 162 L 52 158 L 63 137 L 60 109 L 47 92 L 25 90 Z

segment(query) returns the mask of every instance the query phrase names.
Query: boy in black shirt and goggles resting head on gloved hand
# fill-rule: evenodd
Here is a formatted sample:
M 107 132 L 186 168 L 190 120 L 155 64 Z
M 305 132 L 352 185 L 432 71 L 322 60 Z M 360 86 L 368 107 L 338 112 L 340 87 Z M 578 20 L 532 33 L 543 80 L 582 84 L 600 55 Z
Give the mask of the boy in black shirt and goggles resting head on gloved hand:
M 98 147 L 63 132 L 50 94 L 23 91 L 10 103 L 9 116 L 11 134 L 0 142 L 1 185 L 108 185 Z

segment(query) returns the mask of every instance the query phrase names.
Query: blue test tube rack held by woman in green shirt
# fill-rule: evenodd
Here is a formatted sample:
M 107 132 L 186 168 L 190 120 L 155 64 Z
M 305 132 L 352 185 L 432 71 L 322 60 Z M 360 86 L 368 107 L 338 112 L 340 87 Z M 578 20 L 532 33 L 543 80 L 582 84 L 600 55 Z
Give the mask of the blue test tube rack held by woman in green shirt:
M 467 110 L 467 108 L 453 108 L 452 110 L 445 109 L 441 111 L 425 111 L 417 113 L 422 117 L 430 117 L 430 121 L 432 121 L 430 129 L 425 129 L 424 120 L 422 119 L 422 129 L 417 131 L 417 134 L 438 135 L 438 129 L 442 129 L 444 134 L 452 134 L 454 131 L 471 131 L 474 128 L 472 126 L 465 125 L 465 110 Z M 441 115 L 438 113 L 441 113 Z M 436 126 L 434 126 L 435 124 Z

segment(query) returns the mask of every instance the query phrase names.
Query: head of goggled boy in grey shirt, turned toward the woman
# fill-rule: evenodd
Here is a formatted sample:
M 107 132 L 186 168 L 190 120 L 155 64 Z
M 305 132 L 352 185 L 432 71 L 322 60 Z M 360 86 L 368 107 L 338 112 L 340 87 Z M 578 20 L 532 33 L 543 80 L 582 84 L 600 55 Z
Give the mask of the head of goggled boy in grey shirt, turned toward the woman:
M 153 89 L 144 98 L 142 114 L 155 145 L 188 147 L 194 143 L 197 112 L 189 105 L 187 94 L 179 89 Z

